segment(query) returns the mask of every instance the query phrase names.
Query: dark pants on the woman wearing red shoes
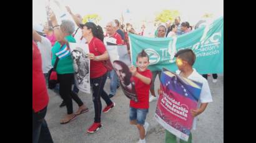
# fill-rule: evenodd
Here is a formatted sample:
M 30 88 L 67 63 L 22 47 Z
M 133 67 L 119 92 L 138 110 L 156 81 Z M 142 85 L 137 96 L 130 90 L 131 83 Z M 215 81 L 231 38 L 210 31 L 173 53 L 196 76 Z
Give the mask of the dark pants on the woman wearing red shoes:
M 92 85 L 92 101 L 94 103 L 94 122 L 101 122 L 101 98 L 104 99 L 107 106 L 112 104 L 111 99 L 107 95 L 106 91 L 104 91 L 104 85 L 107 80 L 107 73 L 102 75 L 99 78 L 91 78 L 91 85 Z

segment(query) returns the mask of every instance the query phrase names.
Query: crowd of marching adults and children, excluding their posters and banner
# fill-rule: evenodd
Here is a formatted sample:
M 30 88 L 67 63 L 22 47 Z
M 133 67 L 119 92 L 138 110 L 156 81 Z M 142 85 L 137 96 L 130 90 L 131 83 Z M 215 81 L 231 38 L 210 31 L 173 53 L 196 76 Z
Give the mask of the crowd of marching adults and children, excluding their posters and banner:
M 67 42 L 84 43 L 89 45 L 89 54 L 87 58 L 91 60 L 90 64 L 90 81 L 92 87 L 92 101 L 94 103 L 94 121 L 92 125 L 87 128 L 87 132 L 94 133 L 98 131 L 101 126 L 101 113 L 107 113 L 114 108 L 115 103 L 111 100 L 116 95 L 119 86 L 126 86 L 129 84 L 122 79 L 121 70 L 118 70 L 121 62 L 116 61 L 116 67 L 108 70 L 102 61 L 109 59 L 106 50 L 106 45 L 127 45 L 127 51 L 130 53 L 128 33 L 144 36 L 145 25 L 142 25 L 142 31 L 135 32 L 132 24 L 121 24 L 117 19 L 107 22 L 104 26 L 106 33 L 100 25 L 94 22 L 86 22 L 82 24 L 82 17 L 80 14 L 73 14 L 69 7 L 66 7 L 69 14 L 76 22 L 63 20 L 59 24 L 56 20 L 54 12 L 49 12 L 49 19 L 51 25 L 33 26 L 32 29 L 32 51 L 33 51 L 33 93 L 32 93 L 32 114 L 33 114 L 33 142 L 53 142 L 47 123 L 44 119 L 47 111 L 47 104 L 49 103 L 49 96 L 47 93 L 48 71 L 54 67 L 57 62 L 56 72 L 59 84 L 54 89 L 62 98 L 60 107 L 66 106 L 67 114 L 61 119 L 60 124 L 67 124 L 80 114 L 89 111 L 86 103 L 82 102 L 77 93 L 79 92 L 76 85 L 74 85 L 74 67 L 73 60 L 67 51 Z M 76 29 L 77 27 L 77 29 Z M 175 22 L 170 21 L 166 25 L 159 25 L 155 31 L 155 37 L 176 37 L 177 35 L 186 34 L 192 31 L 189 22 L 180 22 L 180 17 L 175 17 Z M 66 55 L 64 53 L 67 53 Z M 176 62 L 179 68 L 179 75 L 190 78 L 196 81 L 202 81 L 204 87 L 202 97 L 200 96 L 201 106 L 199 109 L 192 111 L 193 116 L 202 113 L 207 103 L 212 101 L 210 95 L 209 85 L 207 80 L 202 79 L 202 76 L 192 68 L 195 62 L 195 55 L 192 50 L 180 50 L 175 57 L 181 61 Z M 118 65 L 119 64 L 119 65 Z M 119 67 L 118 67 L 119 66 Z M 130 100 L 130 124 L 137 126 L 139 131 L 139 142 L 145 142 L 145 135 L 149 127 L 149 123 L 145 122 L 146 115 L 149 112 L 149 103 L 157 100 L 155 95 L 154 82 L 158 75 L 160 80 L 161 71 L 150 71 L 149 56 L 142 50 L 137 55 L 136 67 L 127 67 L 130 71 L 129 78 L 134 78 L 135 91 L 137 93 L 138 101 Z M 124 72 L 124 71 L 122 71 Z M 126 71 L 127 72 L 127 71 Z M 119 78 L 120 80 L 119 80 Z M 207 79 L 207 75 L 204 75 Z M 110 93 L 104 90 L 106 80 L 110 80 Z M 214 79 L 217 79 L 217 74 L 214 74 Z M 217 81 L 217 80 L 216 80 Z M 214 81 L 215 82 L 215 81 Z M 73 86 L 73 88 L 72 88 Z M 131 85 L 130 85 L 130 89 Z M 161 93 L 160 90 L 157 92 Z M 104 99 L 106 107 L 102 110 L 101 98 Z M 79 108 L 74 113 L 72 99 L 76 102 Z M 191 142 L 192 135 L 188 142 Z M 165 142 L 175 142 L 175 136 L 166 130 Z

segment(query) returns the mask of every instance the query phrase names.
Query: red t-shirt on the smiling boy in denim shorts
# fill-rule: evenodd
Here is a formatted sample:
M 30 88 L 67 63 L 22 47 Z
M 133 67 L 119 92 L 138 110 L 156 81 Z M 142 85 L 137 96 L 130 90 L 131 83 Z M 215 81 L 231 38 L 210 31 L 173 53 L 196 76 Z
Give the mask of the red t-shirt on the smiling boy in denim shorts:
M 141 72 L 137 68 L 137 72 L 140 73 L 140 75 L 143 75 L 152 80 L 152 73 L 150 70 L 145 70 Z M 138 101 L 136 103 L 135 101 L 130 100 L 130 107 L 139 109 L 149 109 L 149 90 L 151 84 L 147 85 L 143 83 L 141 80 L 139 80 L 139 78 L 136 78 L 135 76 L 132 77 L 134 78 L 135 91 L 138 96 Z

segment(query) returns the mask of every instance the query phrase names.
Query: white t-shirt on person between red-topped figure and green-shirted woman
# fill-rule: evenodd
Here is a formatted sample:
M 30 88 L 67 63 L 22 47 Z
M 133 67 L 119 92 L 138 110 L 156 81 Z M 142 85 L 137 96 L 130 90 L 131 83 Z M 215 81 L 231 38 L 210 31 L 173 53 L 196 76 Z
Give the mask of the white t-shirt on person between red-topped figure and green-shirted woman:
M 48 73 L 52 68 L 52 45 L 49 39 L 41 36 L 41 42 L 37 42 L 42 57 L 42 72 Z

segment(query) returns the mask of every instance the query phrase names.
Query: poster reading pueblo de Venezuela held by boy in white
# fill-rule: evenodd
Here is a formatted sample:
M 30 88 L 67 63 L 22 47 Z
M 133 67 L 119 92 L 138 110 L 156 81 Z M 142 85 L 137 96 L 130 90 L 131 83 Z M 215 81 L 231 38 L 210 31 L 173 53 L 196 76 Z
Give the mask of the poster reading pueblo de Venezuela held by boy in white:
M 155 119 L 165 129 L 184 141 L 188 141 L 194 117 L 191 109 L 197 109 L 202 83 L 176 75 L 163 68 L 160 90 L 155 109 Z

